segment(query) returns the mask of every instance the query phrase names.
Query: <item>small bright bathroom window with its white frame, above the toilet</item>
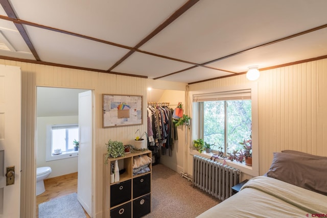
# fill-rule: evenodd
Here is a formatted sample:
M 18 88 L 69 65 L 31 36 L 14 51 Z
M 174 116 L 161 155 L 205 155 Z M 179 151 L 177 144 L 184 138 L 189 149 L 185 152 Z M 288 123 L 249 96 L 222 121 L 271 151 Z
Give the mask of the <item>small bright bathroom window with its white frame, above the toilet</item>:
M 78 156 L 73 143 L 75 139 L 79 140 L 78 124 L 49 125 L 46 132 L 46 161 Z

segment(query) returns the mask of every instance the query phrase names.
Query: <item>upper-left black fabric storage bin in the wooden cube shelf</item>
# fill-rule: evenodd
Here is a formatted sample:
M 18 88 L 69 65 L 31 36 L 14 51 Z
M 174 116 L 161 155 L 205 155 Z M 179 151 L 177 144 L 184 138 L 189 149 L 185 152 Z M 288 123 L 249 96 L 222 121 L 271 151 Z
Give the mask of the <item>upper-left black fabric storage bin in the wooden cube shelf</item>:
M 132 197 L 132 182 L 127 180 L 110 186 L 110 207 L 122 204 L 131 200 Z

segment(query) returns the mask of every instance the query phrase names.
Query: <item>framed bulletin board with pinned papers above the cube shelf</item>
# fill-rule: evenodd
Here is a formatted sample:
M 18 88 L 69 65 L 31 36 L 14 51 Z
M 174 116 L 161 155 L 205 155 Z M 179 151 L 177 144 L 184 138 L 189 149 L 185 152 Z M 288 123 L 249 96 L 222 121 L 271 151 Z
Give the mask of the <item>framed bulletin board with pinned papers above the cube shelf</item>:
M 102 127 L 143 124 L 143 96 L 102 94 Z

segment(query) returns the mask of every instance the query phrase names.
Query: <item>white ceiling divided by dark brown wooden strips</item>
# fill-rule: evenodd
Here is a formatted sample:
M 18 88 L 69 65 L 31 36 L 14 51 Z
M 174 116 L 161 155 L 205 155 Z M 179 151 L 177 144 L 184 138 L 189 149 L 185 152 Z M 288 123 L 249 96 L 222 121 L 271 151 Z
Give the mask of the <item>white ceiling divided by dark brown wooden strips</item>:
M 0 58 L 195 83 L 327 58 L 326 0 L 0 0 Z

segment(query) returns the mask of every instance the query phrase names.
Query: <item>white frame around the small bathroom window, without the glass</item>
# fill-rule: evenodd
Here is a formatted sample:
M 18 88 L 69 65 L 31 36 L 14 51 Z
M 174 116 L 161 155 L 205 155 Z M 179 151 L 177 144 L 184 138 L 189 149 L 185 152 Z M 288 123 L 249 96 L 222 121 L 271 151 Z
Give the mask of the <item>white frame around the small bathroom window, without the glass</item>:
M 65 158 L 72 158 L 77 157 L 79 151 L 74 150 L 68 150 L 66 152 L 63 152 L 59 155 L 53 155 L 53 149 L 52 149 L 52 130 L 53 128 L 57 129 L 67 129 L 62 127 L 77 127 L 78 124 L 59 124 L 59 125 L 47 125 L 46 126 L 46 149 L 45 149 L 45 161 L 53 161 L 53 160 L 59 160 L 59 159 L 65 159 Z M 67 144 L 66 144 L 67 146 Z

